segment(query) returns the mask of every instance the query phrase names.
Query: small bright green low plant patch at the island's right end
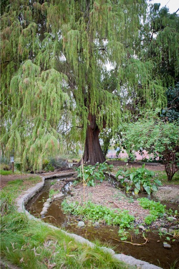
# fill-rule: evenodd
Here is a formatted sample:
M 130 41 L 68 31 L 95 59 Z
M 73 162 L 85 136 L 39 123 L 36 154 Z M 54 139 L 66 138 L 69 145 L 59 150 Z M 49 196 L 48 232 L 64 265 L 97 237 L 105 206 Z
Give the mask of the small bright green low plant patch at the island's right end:
M 166 205 L 161 204 L 160 202 L 155 202 L 153 200 L 149 200 L 145 197 L 139 198 L 139 204 L 145 208 L 150 209 L 150 215 L 145 218 L 145 223 L 150 225 L 152 222 L 156 221 L 158 217 L 163 217 L 165 213 Z

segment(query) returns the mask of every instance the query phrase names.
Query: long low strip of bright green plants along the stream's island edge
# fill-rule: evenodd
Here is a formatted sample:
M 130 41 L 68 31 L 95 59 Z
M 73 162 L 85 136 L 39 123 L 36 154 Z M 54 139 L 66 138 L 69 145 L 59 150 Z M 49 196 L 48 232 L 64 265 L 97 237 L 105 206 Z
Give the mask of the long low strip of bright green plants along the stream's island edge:
M 78 202 L 67 203 L 62 202 L 65 212 L 70 212 L 73 215 L 80 216 L 86 220 L 105 221 L 107 225 L 119 225 L 120 227 L 130 228 L 130 224 L 134 222 L 134 216 L 130 215 L 128 210 L 110 209 L 106 206 L 94 204 L 90 201 L 81 205 Z

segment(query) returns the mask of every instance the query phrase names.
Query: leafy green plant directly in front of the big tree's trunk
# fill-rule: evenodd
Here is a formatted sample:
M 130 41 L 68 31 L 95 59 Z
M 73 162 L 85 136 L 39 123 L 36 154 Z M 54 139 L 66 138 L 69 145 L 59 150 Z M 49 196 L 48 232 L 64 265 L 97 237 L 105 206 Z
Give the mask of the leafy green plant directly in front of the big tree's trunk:
M 107 165 L 106 163 L 99 164 L 97 163 L 95 166 L 86 166 L 84 167 L 84 179 L 88 186 L 94 187 L 94 180 L 99 180 L 102 182 L 105 179 L 104 172 L 110 171 L 112 165 Z M 78 178 L 83 178 L 83 173 L 81 167 L 77 168 Z

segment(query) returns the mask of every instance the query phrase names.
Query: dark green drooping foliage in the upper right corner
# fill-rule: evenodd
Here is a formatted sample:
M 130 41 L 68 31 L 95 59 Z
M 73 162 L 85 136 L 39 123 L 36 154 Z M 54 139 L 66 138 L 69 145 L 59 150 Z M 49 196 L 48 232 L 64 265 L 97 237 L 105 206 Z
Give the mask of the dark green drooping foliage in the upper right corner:
M 179 17 L 168 8 L 151 4 L 148 22 L 144 25 L 145 59 L 153 60 L 155 73 L 165 87 L 174 87 L 179 81 Z

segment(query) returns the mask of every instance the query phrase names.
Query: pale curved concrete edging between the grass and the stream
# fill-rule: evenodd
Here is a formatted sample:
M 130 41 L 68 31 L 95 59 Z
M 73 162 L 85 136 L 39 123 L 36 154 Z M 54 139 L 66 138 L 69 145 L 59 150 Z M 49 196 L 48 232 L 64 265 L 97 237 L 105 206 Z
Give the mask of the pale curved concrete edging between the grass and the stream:
M 25 191 L 24 194 L 20 195 L 17 199 L 17 207 L 18 207 L 18 212 L 24 212 L 25 214 L 27 214 L 28 218 L 31 220 L 35 220 L 38 222 L 41 222 L 40 219 L 37 219 L 35 217 L 33 217 L 26 209 L 25 209 L 25 205 L 27 204 L 27 202 L 39 191 L 43 188 L 44 184 L 45 184 L 45 179 L 49 179 L 49 178 L 53 178 L 53 177 L 65 177 L 65 176 L 73 176 L 75 175 L 76 172 L 71 172 L 71 173 L 64 173 L 64 174 L 55 174 L 55 175 L 51 175 L 51 176 L 44 176 L 41 177 L 42 181 L 40 183 L 37 183 L 34 187 L 31 187 L 30 189 L 28 189 L 27 191 Z M 47 223 L 43 223 L 42 224 L 55 229 L 55 230 L 61 230 L 60 228 L 57 228 L 53 225 L 47 224 Z M 82 244 L 86 244 L 88 246 L 90 246 L 91 248 L 95 247 L 95 244 L 90 242 L 89 240 L 83 238 L 82 236 L 76 235 L 76 234 L 71 234 L 68 232 L 65 232 L 63 230 L 61 230 L 63 233 L 65 233 L 67 236 L 70 236 L 71 238 L 74 238 L 76 241 L 82 243 Z M 161 269 L 161 267 L 158 267 L 154 264 L 150 264 L 149 262 L 143 261 L 143 260 L 139 260 L 136 259 L 132 256 L 128 256 L 125 254 L 116 254 L 111 248 L 107 248 L 107 247 L 100 247 L 100 249 L 102 249 L 104 252 L 108 252 L 110 253 L 115 259 L 118 259 L 120 261 L 123 261 L 127 264 L 129 264 L 130 266 L 136 266 L 136 268 L 141 268 L 141 269 Z

